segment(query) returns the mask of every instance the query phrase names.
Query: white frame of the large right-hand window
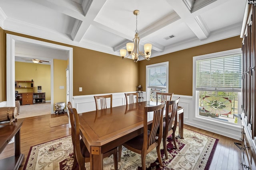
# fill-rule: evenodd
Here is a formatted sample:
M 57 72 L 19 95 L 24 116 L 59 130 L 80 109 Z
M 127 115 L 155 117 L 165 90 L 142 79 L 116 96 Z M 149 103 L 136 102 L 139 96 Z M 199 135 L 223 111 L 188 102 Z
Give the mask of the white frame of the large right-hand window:
M 202 121 L 204 123 L 209 123 L 212 125 L 218 125 L 218 126 L 222 126 L 222 127 L 241 127 L 241 120 L 238 119 L 238 123 L 234 124 L 234 123 L 230 123 L 230 122 L 225 122 L 225 121 L 218 121 L 214 118 L 210 118 L 210 117 L 204 117 L 199 115 L 199 91 L 205 90 L 206 89 L 202 89 L 202 90 L 196 90 L 196 61 L 198 59 L 209 59 L 209 58 L 214 58 L 214 57 L 220 57 L 223 55 L 231 55 L 234 53 L 241 53 L 242 55 L 242 49 L 232 49 L 232 50 L 227 50 L 227 51 L 221 51 L 221 52 L 217 52 L 217 53 L 210 53 L 210 54 L 206 54 L 206 55 L 200 55 L 200 56 L 195 56 L 193 57 L 193 106 L 195 114 L 194 114 L 194 120 L 196 121 Z M 241 87 L 242 89 L 242 87 Z M 221 88 L 218 88 L 217 91 L 221 91 Z M 224 89 L 223 89 L 224 91 Z M 237 90 L 234 90 L 235 92 L 237 92 Z M 241 104 L 242 104 L 242 92 L 238 92 L 238 113 L 242 113 L 242 109 Z

